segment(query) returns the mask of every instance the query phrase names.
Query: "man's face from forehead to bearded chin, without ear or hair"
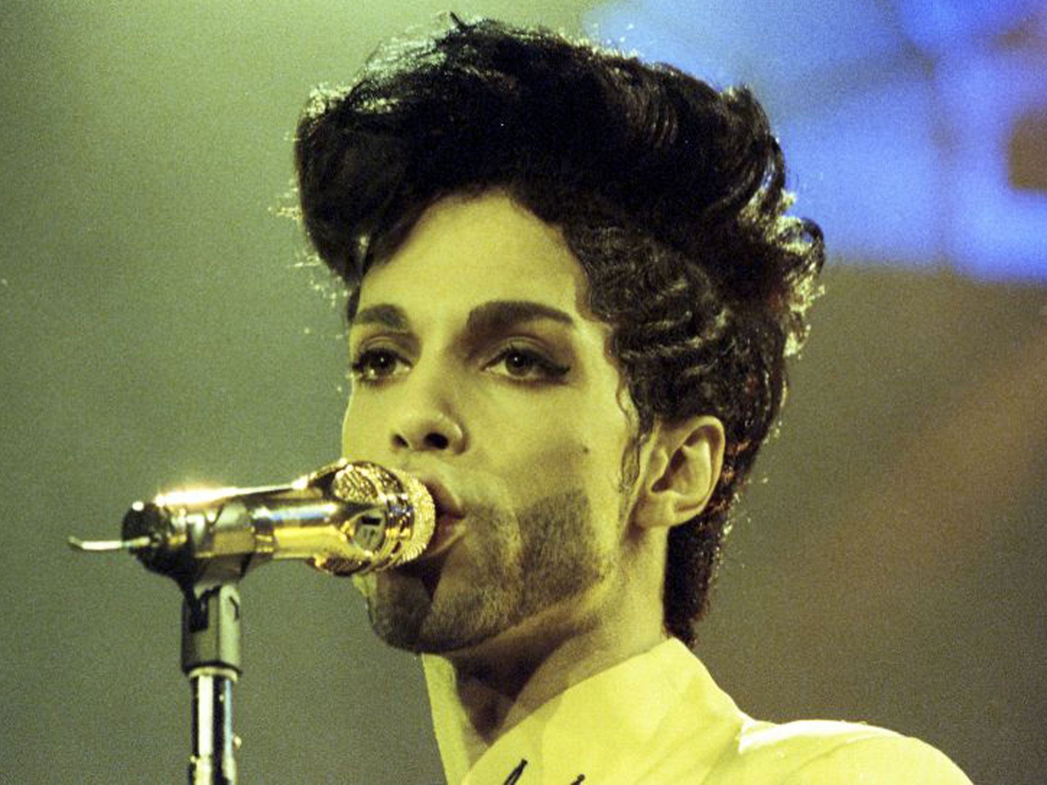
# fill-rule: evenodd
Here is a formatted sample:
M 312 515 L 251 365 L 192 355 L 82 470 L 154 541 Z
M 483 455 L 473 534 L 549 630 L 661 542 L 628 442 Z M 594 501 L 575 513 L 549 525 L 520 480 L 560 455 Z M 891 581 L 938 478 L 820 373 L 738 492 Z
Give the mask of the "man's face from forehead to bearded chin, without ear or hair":
M 415 651 L 565 636 L 612 604 L 630 404 L 559 232 L 500 193 L 433 205 L 363 279 L 342 452 L 438 499 L 426 555 L 357 578 Z

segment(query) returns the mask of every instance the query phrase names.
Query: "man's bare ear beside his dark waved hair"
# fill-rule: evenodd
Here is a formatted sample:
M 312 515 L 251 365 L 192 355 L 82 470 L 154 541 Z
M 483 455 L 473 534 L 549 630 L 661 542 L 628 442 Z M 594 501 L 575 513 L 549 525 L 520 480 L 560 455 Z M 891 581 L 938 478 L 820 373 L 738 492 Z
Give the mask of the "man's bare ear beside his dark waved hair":
M 674 526 L 700 513 L 723 467 L 723 424 L 711 414 L 660 423 L 648 443 L 633 521 Z

